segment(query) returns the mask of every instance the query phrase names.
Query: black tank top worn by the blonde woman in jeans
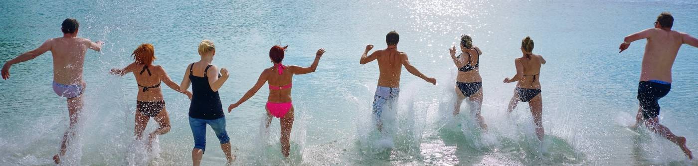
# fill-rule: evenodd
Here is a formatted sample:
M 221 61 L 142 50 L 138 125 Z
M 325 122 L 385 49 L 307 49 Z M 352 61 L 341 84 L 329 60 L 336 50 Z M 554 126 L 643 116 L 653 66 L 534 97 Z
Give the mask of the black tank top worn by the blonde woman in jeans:
M 211 90 L 207 71 L 213 65 L 206 66 L 204 77 L 196 77 L 193 74 L 194 63 L 189 67 L 189 80 L 191 80 L 191 105 L 189 106 L 189 117 L 195 119 L 219 119 L 223 114 L 221 96 L 217 91 Z

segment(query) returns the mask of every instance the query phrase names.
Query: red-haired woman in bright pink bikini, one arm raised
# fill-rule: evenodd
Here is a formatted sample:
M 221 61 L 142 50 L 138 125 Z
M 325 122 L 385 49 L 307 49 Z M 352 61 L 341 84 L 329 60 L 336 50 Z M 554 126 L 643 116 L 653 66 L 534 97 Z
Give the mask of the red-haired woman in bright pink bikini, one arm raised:
M 300 66 L 284 66 L 281 64 L 286 48 L 288 48 L 288 45 L 285 47 L 274 45 L 274 47 L 269 50 L 269 59 L 272 60 L 274 66 L 262 71 L 255 86 L 247 91 L 240 100 L 231 104 L 230 107 L 228 107 L 228 112 L 250 99 L 262 88 L 265 82 L 269 82 L 269 97 L 266 105 L 267 127 L 269 127 L 269 123 L 272 123 L 272 116 L 281 119 L 281 153 L 283 153 L 283 156 L 288 157 L 288 151 L 290 149 L 289 139 L 294 118 L 293 105 L 291 103 L 291 82 L 293 80 L 293 75 L 315 72 L 315 68 L 318 68 L 320 57 L 322 54 L 325 54 L 325 49 L 320 48 L 320 50 L 315 53 L 315 61 L 313 61 L 313 64 L 308 68 L 304 68 Z

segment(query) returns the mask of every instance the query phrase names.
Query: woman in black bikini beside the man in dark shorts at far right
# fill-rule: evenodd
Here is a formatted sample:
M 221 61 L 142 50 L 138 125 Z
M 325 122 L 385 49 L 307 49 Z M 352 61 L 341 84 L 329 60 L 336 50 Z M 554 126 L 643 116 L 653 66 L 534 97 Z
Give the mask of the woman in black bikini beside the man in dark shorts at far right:
M 545 64 L 545 59 L 543 56 L 533 54 L 533 40 L 529 36 L 521 41 L 521 52 L 523 56 L 514 60 L 517 66 L 517 75 L 511 79 L 509 77 L 504 79 L 504 83 L 519 82 L 507 111 L 512 112 L 519 101 L 528 102 L 530 114 L 533 116 L 533 123 L 536 126 L 535 133 L 538 139 L 543 140 L 543 135 L 545 135 L 542 122 L 543 99 L 539 80 L 540 66 Z

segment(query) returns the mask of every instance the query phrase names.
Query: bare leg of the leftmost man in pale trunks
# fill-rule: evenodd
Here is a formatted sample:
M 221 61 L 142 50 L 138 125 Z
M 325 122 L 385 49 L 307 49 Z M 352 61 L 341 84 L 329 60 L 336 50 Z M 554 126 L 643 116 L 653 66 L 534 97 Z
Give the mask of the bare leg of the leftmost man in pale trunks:
M 66 133 L 64 133 L 63 139 L 61 140 L 61 150 L 56 156 L 53 156 L 53 161 L 56 164 L 61 163 L 60 157 L 66 155 L 66 149 L 68 148 L 67 144 L 70 142 L 69 139 L 75 137 L 75 126 L 80 118 L 80 111 L 82 111 L 82 96 L 68 98 L 66 101 L 68 103 L 68 116 L 70 123 L 68 130 L 66 130 Z

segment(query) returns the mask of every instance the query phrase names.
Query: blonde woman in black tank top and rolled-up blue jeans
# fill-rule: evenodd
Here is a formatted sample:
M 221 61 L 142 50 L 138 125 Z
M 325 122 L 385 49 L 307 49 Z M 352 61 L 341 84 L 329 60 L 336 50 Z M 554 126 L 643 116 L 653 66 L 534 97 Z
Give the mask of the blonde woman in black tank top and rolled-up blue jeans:
M 218 96 L 218 89 L 221 89 L 225 80 L 228 80 L 228 70 L 221 68 L 219 73 L 218 67 L 212 64 L 216 55 L 216 46 L 211 40 L 202 40 L 199 43 L 199 55 L 201 60 L 191 63 L 184 72 L 184 79 L 181 80 L 181 90 L 188 89 L 191 84 L 193 92 L 191 105 L 189 105 L 189 126 L 194 135 L 191 160 L 193 165 L 201 163 L 206 150 L 206 125 L 208 124 L 221 142 L 221 149 L 225 153 L 228 165 L 231 165 L 235 156 L 230 152 L 230 137 L 225 132 L 225 115 L 221 97 Z

